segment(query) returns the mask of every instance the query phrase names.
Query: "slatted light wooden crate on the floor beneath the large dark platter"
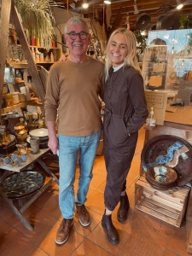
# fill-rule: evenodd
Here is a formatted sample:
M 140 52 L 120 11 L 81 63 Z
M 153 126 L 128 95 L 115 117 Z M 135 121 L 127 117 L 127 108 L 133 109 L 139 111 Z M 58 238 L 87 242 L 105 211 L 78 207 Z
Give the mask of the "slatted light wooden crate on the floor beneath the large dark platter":
M 154 189 L 144 174 L 135 185 L 135 207 L 138 210 L 178 228 L 181 226 L 189 198 L 188 186 L 168 190 Z

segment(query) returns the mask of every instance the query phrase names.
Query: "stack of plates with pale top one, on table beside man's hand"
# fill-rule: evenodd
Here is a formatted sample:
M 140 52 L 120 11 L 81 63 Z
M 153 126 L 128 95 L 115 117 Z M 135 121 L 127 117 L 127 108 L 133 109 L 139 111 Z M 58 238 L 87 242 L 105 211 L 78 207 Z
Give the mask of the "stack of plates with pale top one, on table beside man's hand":
M 29 137 L 26 139 L 27 143 L 30 143 L 31 137 L 39 137 L 39 148 L 48 148 L 48 129 L 39 128 L 29 131 Z

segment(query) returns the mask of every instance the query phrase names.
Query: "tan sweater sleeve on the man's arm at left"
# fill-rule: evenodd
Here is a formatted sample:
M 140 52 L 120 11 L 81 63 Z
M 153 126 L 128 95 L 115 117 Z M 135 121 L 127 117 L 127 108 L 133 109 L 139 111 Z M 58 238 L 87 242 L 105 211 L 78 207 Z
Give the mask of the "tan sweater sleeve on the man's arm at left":
M 59 107 L 59 79 L 57 69 L 53 65 L 49 70 L 46 94 L 44 99 L 46 121 L 55 121 L 57 108 Z

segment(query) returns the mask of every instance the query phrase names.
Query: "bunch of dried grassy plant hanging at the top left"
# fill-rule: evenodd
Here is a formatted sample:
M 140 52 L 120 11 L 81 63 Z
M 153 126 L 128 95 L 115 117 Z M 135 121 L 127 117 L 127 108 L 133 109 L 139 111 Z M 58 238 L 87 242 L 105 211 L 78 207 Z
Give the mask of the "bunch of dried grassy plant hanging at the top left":
M 56 6 L 52 0 L 15 0 L 16 8 L 20 13 L 23 27 L 34 38 L 43 38 L 48 44 L 54 32 L 55 19 L 50 6 Z

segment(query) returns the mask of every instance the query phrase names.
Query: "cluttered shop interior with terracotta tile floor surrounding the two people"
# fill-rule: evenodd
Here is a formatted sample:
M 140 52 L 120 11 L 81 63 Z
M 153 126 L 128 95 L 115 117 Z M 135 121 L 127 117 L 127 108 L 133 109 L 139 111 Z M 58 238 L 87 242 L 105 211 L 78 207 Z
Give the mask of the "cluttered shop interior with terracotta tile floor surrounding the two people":
M 36 15 L 20 6 L 34 14 L 41 9 L 40 0 L 0 0 L 0 254 L 190 255 L 192 1 L 44 2 L 47 8 L 41 11 L 49 14 L 49 21 L 39 18 L 38 23 Z M 149 115 L 139 131 L 127 177 L 128 219 L 119 224 L 117 210 L 113 213 L 118 246 L 106 240 L 101 224 L 106 183 L 103 137 L 86 201 L 91 224 L 84 229 L 75 216 L 67 243 L 55 244 L 62 219 L 59 166 L 57 155 L 48 148 L 44 96 L 49 68 L 67 55 L 64 27 L 75 15 L 90 26 L 87 55 L 103 63 L 113 30 L 125 27 L 137 38 Z M 26 19 L 29 16 L 31 22 Z M 102 117 L 104 102 L 101 108 Z M 38 146 L 35 137 L 40 138 Z M 79 158 L 74 189 L 78 177 Z

